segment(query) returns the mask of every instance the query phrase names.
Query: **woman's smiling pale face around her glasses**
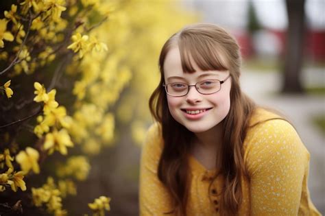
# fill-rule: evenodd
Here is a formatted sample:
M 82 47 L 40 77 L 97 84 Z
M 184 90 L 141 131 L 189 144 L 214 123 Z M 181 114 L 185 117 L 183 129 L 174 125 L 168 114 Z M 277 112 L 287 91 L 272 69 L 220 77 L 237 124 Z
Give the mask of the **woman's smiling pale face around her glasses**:
M 194 85 L 203 80 L 225 80 L 228 71 L 202 71 L 195 62 L 191 62 L 194 73 L 184 73 L 180 51 L 177 46 L 167 53 L 163 65 L 165 83 L 182 82 Z M 182 97 L 167 95 L 169 112 L 173 119 L 194 133 L 213 130 L 228 115 L 230 110 L 231 78 L 228 78 L 217 93 L 202 95 L 194 86 Z

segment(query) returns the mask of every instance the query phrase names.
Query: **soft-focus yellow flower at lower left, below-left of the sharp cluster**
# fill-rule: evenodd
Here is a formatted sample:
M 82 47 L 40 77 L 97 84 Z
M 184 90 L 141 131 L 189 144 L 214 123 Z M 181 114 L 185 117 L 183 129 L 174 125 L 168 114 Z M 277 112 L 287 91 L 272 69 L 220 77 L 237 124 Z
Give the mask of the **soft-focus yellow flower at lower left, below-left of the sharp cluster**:
M 36 149 L 32 147 L 27 147 L 26 152 L 21 151 L 16 156 L 16 161 L 21 165 L 21 169 L 28 173 L 30 169 L 33 169 L 34 173 L 40 172 L 40 167 L 38 166 L 37 160 L 40 154 Z

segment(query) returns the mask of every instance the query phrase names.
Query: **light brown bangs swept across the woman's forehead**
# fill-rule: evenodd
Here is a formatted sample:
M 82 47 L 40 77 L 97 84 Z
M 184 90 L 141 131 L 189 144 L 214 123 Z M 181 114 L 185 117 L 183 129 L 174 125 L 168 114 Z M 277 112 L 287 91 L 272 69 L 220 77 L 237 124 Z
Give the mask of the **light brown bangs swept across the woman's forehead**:
M 184 73 L 195 72 L 193 61 L 202 71 L 228 71 L 225 51 L 207 35 L 181 32 L 178 47 Z

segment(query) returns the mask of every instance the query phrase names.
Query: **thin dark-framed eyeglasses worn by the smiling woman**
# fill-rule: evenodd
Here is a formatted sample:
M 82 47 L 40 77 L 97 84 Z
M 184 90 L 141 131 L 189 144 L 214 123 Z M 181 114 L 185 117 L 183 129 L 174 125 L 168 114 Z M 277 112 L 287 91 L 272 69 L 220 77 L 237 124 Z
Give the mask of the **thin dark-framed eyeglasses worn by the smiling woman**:
M 195 86 L 196 90 L 202 95 L 210 95 L 213 93 L 217 93 L 221 89 L 221 84 L 228 80 L 228 77 L 224 80 L 202 80 L 197 82 L 195 85 L 189 85 L 184 82 L 171 82 L 168 84 L 163 84 L 165 86 L 165 91 L 167 95 L 171 95 L 173 97 L 182 97 L 189 93 L 190 86 Z

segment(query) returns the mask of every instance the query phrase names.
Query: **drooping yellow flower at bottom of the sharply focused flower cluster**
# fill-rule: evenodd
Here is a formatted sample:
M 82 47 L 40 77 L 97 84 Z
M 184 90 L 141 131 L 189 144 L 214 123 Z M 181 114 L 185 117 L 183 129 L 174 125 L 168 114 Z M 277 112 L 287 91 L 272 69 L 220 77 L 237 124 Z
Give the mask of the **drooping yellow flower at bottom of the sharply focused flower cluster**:
M 67 130 L 61 129 L 59 132 L 54 130 L 53 133 L 48 133 L 45 136 L 44 149 L 49 149 L 49 154 L 52 154 L 54 150 L 58 150 L 65 155 L 67 154 L 67 147 L 73 147 Z

